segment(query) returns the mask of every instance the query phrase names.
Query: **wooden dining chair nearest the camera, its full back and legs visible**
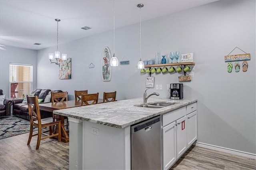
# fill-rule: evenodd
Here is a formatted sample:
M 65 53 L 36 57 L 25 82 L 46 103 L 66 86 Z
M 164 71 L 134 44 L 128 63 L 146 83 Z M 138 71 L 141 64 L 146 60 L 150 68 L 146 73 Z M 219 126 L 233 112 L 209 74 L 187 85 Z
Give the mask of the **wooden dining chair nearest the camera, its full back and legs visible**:
M 27 101 L 28 101 L 28 112 L 29 112 L 29 119 L 30 119 L 30 132 L 29 132 L 27 145 L 30 144 L 32 136 L 36 136 L 36 135 L 37 135 L 36 150 L 39 148 L 41 140 L 46 138 L 58 136 L 58 141 L 61 142 L 60 120 L 54 119 L 52 117 L 41 119 L 37 96 L 30 97 L 27 95 Z M 58 126 L 58 129 L 55 134 L 52 134 L 52 126 L 55 126 L 55 125 Z M 33 134 L 33 127 L 38 128 L 37 134 Z M 42 132 L 42 128 L 45 128 L 45 127 L 48 127 L 49 129 Z M 49 134 L 46 134 L 46 132 L 49 132 Z M 42 138 L 42 135 L 44 135 L 45 137 Z

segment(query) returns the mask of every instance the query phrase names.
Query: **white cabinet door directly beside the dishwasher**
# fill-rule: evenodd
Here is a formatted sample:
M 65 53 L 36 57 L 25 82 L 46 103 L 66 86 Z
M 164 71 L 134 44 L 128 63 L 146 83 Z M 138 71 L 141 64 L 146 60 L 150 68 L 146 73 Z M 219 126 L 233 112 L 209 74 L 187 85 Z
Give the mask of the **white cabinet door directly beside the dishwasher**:
M 162 169 L 168 170 L 176 161 L 176 122 L 162 128 Z

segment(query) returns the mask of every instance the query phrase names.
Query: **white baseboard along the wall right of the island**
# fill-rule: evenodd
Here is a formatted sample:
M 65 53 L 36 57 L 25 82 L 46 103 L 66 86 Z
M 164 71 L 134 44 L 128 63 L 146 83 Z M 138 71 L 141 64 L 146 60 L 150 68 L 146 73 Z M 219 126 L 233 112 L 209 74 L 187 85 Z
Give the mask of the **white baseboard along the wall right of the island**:
M 194 142 L 193 145 L 201 147 L 201 148 L 207 148 L 207 149 L 212 149 L 212 150 L 225 152 L 225 153 L 229 153 L 229 154 L 234 154 L 234 155 L 238 155 L 238 156 L 244 156 L 246 158 L 256 159 L 256 154 L 249 153 L 249 152 L 243 152 L 243 151 L 240 151 L 240 150 L 224 148 L 224 147 L 221 147 L 221 146 L 215 146 L 215 145 L 212 145 L 212 144 L 206 144 L 206 143 L 202 143 L 202 142 Z

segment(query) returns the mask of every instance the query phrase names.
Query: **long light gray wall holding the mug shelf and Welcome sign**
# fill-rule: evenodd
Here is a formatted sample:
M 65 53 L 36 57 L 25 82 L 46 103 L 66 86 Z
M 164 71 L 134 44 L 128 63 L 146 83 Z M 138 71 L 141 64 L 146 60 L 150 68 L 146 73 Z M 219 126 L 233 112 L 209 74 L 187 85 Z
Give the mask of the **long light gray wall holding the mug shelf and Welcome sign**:
M 144 5 L 146 6 L 146 3 Z M 142 60 L 170 51 L 194 53 L 195 75 L 184 83 L 184 97 L 198 99 L 198 142 L 256 154 L 256 60 L 255 1 L 217 1 L 161 18 L 142 22 Z M 142 9 L 143 18 L 143 9 Z M 117 91 L 117 100 L 142 97 L 147 75 L 136 68 L 140 59 L 139 23 L 116 29 L 115 54 L 130 65 L 112 67 L 110 82 L 101 78 L 101 56 L 105 46 L 113 55 L 113 32 L 59 45 L 61 53 L 72 58 L 72 79 L 59 80 L 57 65 L 50 64 L 48 53 L 56 47 L 38 51 L 37 88 L 68 91 L 88 89 L 89 93 Z M 239 47 L 251 54 L 248 71 L 227 72 L 227 55 Z M 232 54 L 240 54 L 235 50 Z M 168 60 L 167 60 L 168 61 Z M 94 63 L 94 69 L 88 65 Z M 155 75 L 150 89 L 168 97 L 166 84 L 177 83 L 178 73 Z M 150 99 L 148 100 L 150 101 Z

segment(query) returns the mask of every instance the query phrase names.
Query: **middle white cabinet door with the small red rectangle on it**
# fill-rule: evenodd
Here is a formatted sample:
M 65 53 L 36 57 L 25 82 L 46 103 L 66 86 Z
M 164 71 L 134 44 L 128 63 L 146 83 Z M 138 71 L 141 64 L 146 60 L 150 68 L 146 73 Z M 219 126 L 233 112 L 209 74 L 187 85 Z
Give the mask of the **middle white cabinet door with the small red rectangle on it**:
M 176 121 L 177 132 L 177 159 L 182 156 L 187 149 L 187 123 L 186 117 L 182 117 Z

